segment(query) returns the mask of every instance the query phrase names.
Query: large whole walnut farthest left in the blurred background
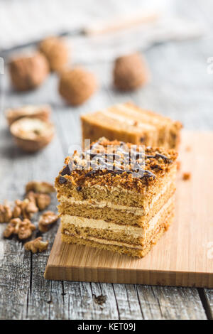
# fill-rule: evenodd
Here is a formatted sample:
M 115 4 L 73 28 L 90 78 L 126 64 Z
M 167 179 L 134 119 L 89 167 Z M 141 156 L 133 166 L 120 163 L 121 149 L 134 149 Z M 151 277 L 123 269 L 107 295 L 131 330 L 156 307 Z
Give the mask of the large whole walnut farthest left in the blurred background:
M 41 53 L 13 58 L 9 63 L 11 82 L 19 91 L 38 87 L 45 80 L 48 72 L 48 60 Z

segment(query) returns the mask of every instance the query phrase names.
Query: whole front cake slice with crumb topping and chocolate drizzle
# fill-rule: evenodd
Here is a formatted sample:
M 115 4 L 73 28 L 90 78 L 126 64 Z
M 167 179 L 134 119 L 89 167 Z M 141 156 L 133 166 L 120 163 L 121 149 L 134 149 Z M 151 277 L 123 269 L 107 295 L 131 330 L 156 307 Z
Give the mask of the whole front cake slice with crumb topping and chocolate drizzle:
M 63 242 L 143 257 L 174 215 L 177 153 L 105 138 L 55 179 Z

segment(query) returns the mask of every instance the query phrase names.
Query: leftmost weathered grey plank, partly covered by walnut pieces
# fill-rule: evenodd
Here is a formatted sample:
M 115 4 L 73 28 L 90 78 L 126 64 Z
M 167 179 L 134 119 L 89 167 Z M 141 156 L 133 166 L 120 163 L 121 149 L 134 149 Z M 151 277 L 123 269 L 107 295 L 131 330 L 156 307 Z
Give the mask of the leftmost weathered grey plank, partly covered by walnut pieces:
M 2 77 L 0 76 L 1 97 Z M 3 99 L 1 98 L 1 106 Z M 10 138 L 4 129 L 4 117 L 0 114 L 0 203 L 4 199 L 15 200 L 20 196 L 16 178 L 20 163 L 13 163 L 16 153 L 11 149 Z M 2 237 L 6 224 L 0 224 L 0 318 L 26 318 L 28 293 L 31 280 L 31 255 L 23 252 L 23 244 L 16 239 Z

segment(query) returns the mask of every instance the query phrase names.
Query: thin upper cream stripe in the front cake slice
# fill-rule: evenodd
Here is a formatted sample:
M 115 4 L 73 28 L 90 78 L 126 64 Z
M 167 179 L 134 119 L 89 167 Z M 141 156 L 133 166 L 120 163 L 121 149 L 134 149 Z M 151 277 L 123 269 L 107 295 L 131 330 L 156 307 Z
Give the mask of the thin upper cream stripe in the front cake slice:
M 71 198 L 67 198 L 67 196 L 65 195 L 61 195 L 59 200 L 60 202 L 66 202 L 66 203 L 70 203 L 70 205 L 72 204 L 76 204 L 76 205 L 90 205 L 94 208 L 111 208 L 111 209 L 115 209 L 115 210 L 126 210 L 126 213 L 132 213 L 133 215 L 144 215 L 146 213 L 148 213 L 149 210 L 151 210 L 153 208 L 153 205 L 159 200 L 159 198 L 163 195 L 165 195 L 165 193 L 168 191 L 168 189 L 170 188 L 170 186 L 172 185 L 173 181 L 167 183 L 167 185 L 165 185 L 163 187 L 163 189 L 160 191 L 160 193 L 158 193 L 158 195 L 156 195 L 153 200 L 151 201 L 151 203 L 148 203 L 147 208 L 136 208 L 136 207 L 131 207 L 128 205 L 118 205 L 118 204 L 114 204 L 111 203 L 108 200 L 101 200 L 101 201 L 97 201 L 97 200 L 75 200 L 75 198 L 71 197 Z

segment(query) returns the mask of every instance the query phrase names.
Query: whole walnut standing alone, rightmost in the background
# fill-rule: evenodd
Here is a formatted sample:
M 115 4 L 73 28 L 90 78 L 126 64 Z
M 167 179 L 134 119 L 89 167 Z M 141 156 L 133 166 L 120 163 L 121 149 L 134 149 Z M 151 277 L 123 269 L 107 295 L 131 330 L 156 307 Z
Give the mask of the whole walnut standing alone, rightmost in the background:
M 119 90 L 136 90 L 150 77 L 145 60 L 138 53 L 124 55 L 114 63 L 114 86 Z

